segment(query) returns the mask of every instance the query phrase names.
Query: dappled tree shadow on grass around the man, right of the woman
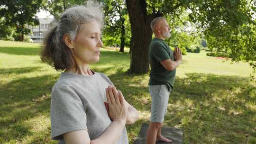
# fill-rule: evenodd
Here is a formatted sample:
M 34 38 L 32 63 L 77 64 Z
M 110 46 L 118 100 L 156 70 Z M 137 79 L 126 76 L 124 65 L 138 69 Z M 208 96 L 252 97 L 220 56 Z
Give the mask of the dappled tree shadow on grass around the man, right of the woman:
M 106 70 L 105 70 L 106 71 Z M 104 73 L 104 71 L 102 71 Z M 256 127 L 256 85 L 249 78 L 187 73 L 176 78 L 169 99 L 165 125 L 183 128 L 183 144 L 253 144 Z M 137 110 L 150 113 L 151 98 L 142 81 L 148 75 L 117 72 L 110 80 Z M 149 117 L 127 126 L 130 143 Z M 130 139 L 130 138 L 129 138 Z

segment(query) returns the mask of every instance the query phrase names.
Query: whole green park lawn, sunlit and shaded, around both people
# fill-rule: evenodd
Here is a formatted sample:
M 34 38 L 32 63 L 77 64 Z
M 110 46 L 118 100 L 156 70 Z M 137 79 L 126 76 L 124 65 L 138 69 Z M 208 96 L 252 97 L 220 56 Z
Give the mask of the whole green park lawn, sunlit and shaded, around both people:
M 0 144 L 56 144 L 50 139 L 50 92 L 60 72 L 42 63 L 39 45 L 0 41 Z M 140 119 L 127 126 L 129 144 L 148 123 L 148 74 L 128 75 L 129 54 L 102 48 L 91 65 L 109 76 Z M 165 126 L 183 129 L 183 144 L 256 144 L 256 84 L 246 63 L 188 53 L 177 69 Z

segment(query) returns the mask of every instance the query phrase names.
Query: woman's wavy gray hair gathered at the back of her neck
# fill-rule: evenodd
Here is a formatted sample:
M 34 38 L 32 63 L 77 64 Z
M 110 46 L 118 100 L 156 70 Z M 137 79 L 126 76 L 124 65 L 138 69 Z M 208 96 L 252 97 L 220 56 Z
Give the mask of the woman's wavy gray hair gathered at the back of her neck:
M 54 66 L 57 71 L 63 71 L 74 66 L 72 53 L 64 43 L 64 35 L 68 34 L 75 40 L 82 30 L 82 24 L 95 19 L 103 27 L 102 5 L 88 0 L 85 5 L 74 6 L 66 9 L 59 22 L 49 30 L 41 51 L 41 60 Z

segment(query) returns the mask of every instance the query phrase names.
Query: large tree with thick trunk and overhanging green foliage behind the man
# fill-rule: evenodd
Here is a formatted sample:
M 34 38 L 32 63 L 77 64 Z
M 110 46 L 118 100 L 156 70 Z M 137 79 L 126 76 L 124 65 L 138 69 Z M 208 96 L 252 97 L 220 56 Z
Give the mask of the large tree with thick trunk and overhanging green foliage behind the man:
M 209 48 L 225 49 L 233 61 L 245 60 L 255 69 L 255 0 L 126 0 L 126 3 L 132 30 L 131 73 L 148 72 L 151 20 L 163 15 L 179 19 L 188 10 L 188 20 L 203 31 Z

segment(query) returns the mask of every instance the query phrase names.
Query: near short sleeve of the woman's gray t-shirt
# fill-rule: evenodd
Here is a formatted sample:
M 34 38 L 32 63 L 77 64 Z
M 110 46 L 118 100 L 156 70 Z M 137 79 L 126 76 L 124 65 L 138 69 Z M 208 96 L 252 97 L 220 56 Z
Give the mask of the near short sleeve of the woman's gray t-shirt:
M 63 134 L 87 130 L 86 113 L 79 96 L 69 87 L 54 87 L 51 98 L 51 137 L 63 139 Z

